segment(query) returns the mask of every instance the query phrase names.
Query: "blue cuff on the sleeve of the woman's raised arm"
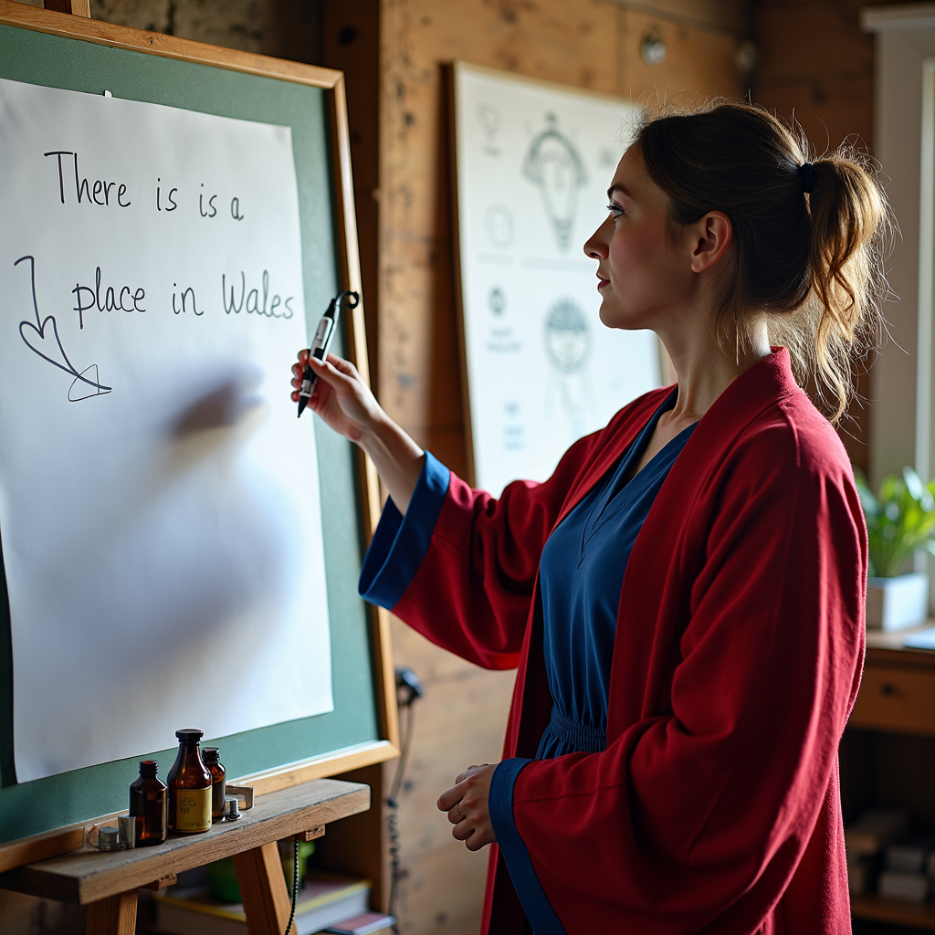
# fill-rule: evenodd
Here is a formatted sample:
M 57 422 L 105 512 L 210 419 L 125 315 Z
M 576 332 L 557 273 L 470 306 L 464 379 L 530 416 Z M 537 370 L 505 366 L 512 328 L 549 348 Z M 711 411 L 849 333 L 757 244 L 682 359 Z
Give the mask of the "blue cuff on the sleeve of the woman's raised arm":
M 392 497 L 386 501 L 357 585 L 360 596 L 371 604 L 392 611 L 406 593 L 428 552 L 451 476 L 434 455 L 425 452 L 406 515 L 396 509 Z

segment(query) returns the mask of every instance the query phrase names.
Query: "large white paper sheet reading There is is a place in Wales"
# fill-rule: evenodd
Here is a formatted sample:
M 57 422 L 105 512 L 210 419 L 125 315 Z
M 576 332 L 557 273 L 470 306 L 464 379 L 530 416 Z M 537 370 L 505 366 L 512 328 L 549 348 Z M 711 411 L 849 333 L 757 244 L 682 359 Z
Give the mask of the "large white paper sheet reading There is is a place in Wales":
M 18 780 L 330 711 L 291 130 L 0 80 L 0 166 Z

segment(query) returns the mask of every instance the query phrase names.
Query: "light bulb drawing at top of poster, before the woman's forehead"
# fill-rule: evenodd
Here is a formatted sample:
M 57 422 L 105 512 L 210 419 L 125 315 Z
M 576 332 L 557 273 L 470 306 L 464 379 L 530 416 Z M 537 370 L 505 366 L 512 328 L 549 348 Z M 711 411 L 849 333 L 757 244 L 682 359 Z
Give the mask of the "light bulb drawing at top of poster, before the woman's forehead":
M 523 175 L 539 188 L 558 249 L 568 252 L 578 209 L 578 194 L 587 181 L 581 154 L 558 129 L 554 113 L 545 115 L 546 127 L 529 145 Z

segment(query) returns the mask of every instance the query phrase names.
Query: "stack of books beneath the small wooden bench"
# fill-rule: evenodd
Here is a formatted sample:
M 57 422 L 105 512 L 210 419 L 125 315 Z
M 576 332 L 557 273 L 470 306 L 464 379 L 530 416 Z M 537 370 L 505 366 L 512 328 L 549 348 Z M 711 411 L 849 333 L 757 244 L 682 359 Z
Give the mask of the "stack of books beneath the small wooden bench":
M 297 935 L 313 935 L 345 920 L 367 915 L 369 899 L 369 880 L 309 871 L 306 885 L 295 900 L 295 931 Z M 243 904 L 211 899 L 206 888 L 173 886 L 158 894 L 153 903 L 155 928 L 165 935 L 247 935 Z M 374 915 L 371 922 L 377 918 L 379 916 Z M 382 918 L 386 919 L 383 928 L 393 924 L 389 916 Z

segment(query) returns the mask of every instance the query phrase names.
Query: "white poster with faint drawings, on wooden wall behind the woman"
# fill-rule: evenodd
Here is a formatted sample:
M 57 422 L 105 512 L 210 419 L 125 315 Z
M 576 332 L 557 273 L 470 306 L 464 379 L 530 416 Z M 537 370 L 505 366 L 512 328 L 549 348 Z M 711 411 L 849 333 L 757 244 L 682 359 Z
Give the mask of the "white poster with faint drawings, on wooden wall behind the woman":
M 458 232 L 475 479 L 542 481 L 660 382 L 648 331 L 600 323 L 583 244 L 607 216 L 631 105 L 455 66 Z

